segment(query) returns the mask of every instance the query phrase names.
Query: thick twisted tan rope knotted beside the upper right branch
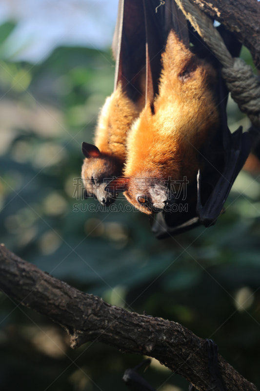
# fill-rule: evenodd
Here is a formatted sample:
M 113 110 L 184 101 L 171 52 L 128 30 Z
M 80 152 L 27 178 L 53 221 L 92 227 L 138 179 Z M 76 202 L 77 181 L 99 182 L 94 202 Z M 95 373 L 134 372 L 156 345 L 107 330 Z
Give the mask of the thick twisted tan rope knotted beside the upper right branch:
M 223 65 L 222 76 L 240 110 L 248 115 L 254 126 L 260 127 L 260 80 L 251 66 L 240 58 L 232 58 L 220 33 L 197 5 L 189 0 L 175 2 Z

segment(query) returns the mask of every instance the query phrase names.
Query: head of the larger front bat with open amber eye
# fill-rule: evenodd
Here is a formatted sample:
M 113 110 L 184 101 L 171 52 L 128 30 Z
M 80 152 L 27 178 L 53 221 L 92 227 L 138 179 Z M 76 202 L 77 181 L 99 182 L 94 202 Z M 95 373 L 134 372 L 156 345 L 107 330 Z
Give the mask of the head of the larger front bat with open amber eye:
M 166 205 L 175 202 L 174 194 L 158 177 L 140 176 L 125 178 L 120 176 L 107 184 L 105 190 L 115 194 L 124 193 L 126 199 L 141 212 L 151 215 L 162 211 Z

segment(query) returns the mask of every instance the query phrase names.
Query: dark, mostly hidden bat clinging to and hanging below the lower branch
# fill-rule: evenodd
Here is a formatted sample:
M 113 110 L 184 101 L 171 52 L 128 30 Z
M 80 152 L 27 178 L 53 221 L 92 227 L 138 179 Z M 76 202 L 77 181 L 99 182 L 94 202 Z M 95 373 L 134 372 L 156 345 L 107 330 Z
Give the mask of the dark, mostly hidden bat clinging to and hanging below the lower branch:
M 225 382 L 222 378 L 219 364 L 218 364 L 218 345 L 215 344 L 213 340 L 206 339 L 206 356 L 207 356 L 207 368 L 210 374 L 210 384 L 207 388 L 207 391 L 226 391 Z M 131 391 L 155 391 L 155 389 L 150 386 L 149 383 L 144 380 L 140 374 L 137 372 L 142 366 L 146 365 L 146 368 L 151 364 L 151 360 L 148 358 L 145 361 L 142 361 L 133 369 L 126 369 L 123 375 L 123 381 L 125 385 Z M 196 391 L 195 387 L 190 384 L 189 391 Z

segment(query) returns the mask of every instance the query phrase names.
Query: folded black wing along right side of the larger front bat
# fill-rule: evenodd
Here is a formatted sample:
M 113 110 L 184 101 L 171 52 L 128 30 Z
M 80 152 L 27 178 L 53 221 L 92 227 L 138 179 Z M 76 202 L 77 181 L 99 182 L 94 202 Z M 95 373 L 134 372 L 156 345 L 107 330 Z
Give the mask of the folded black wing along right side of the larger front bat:
M 172 11 L 175 12 L 176 9 L 172 9 Z M 177 12 L 177 20 L 182 21 L 180 10 Z M 180 28 L 180 23 L 178 28 Z M 221 77 L 221 64 L 189 23 L 188 29 L 189 41 L 194 45 L 196 54 L 200 58 L 210 61 L 216 69 L 219 69 L 216 96 L 220 105 L 221 125 L 211 145 L 201 151 L 201 164 L 205 169 L 203 175 L 200 175 L 200 171 L 198 173 L 197 189 L 196 186 L 189 189 L 185 199 L 187 210 L 181 211 L 181 208 L 177 207 L 176 212 L 160 212 L 155 216 L 152 231 L 158 239 L 179 235 L 201 224 L 205 227 L 215 224 L 223 211 L 224 202 L 252 145 L 250 134 L 248 132 L 242 133 L 241 127 L 234 133 L 230 132 L 226 116 L 228 89 Z M 186 29 L 183 28 L 183 30 L 185 40 Z M 218 30 L 231 55 L 238 57 L 241 44 L 222 25 Z M 177 206 L 180 206 L 178 201 Z

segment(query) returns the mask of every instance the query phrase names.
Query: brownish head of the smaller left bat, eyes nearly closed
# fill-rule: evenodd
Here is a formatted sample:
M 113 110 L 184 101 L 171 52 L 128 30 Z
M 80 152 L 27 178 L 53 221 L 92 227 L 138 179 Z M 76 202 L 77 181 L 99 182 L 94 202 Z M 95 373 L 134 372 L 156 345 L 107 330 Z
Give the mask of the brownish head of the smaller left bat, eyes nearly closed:
M 82 143 L 82 152 L 85 156 L 81 178 L 85 186 L 85 195 L 94 197 L 103 206 L 109 206 L 115 202 L 117 194 L 105 190 L 106 183 L 113 176 L 110 173 L 120 174 L 119 164 L 111 156 L 100 152 L 98 147 L 92 144 Z

